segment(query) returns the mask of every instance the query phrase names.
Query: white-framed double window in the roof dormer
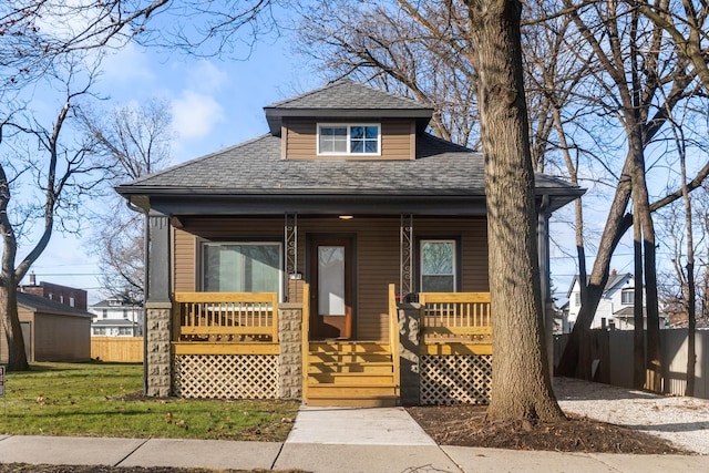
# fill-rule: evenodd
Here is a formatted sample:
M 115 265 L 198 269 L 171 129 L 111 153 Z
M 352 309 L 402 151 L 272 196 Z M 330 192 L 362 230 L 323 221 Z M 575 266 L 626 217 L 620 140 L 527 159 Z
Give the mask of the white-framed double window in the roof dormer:
M 379 156 L 379 124 L 318 124 L 318 155 Z

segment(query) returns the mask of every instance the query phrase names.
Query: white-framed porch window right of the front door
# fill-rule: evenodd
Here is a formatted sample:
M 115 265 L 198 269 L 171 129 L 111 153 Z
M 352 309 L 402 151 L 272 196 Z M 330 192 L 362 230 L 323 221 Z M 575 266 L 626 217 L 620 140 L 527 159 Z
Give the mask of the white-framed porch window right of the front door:
M 455 241 L 421 241 L 421 291 L 455 291 Z

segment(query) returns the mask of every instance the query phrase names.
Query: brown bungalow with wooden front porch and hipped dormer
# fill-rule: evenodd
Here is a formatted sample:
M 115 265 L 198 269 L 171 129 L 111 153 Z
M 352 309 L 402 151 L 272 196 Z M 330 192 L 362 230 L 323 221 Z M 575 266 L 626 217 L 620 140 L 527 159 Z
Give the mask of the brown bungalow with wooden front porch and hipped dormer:
M 264 110 L 265 135 L 116 188 L 150 213 L 147 393 L 485 402 L 482 154 L 350 81 Z M 536 175 L 547 301 L 548 217 L 582 194 Z

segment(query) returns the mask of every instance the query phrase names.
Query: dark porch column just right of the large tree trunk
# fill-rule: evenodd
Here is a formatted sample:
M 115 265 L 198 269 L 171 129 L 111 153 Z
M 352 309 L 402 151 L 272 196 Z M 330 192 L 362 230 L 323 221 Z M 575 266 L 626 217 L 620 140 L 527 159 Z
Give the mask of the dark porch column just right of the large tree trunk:
M 549 269 L 549 196 L 542 197 L 542 206 L 537 213 L 536 235 L 540 259 L 540 281 L 542 289 L 542 313 L 544 316 L 544 335 L 549 374 L 554 373 L 554 299 Z

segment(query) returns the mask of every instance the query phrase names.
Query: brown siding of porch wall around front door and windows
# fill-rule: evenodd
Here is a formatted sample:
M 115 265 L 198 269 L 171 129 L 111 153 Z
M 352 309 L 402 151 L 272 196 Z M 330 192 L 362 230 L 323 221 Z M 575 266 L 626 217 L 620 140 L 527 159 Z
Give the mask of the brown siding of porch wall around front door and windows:
M 195 248 L 198 238 L 282 239 L 282 218 L 223 219 L 186 218 L 175 232 L 175 288 L 199 290 Z M 414 243 L 419 237 L 455 237 L 461 241 L 461 290 L 487 291 L 487 244 L 484 218 L 414 218 Z M 363 340 L 386 339 L 388 286 L 399 286 L 399 218 L 298 219 L 298 270 L 307 281 L 307 236 L 356 235 L 357 238 L 357 335 Z M 414 258 L 418 251 L 414 248 Z M 417 263 L 414 261 L 414 268 Z M 415 270 L 414 270 L 415 275 Z M 414 280 L 414 287 L 418 281 Z

